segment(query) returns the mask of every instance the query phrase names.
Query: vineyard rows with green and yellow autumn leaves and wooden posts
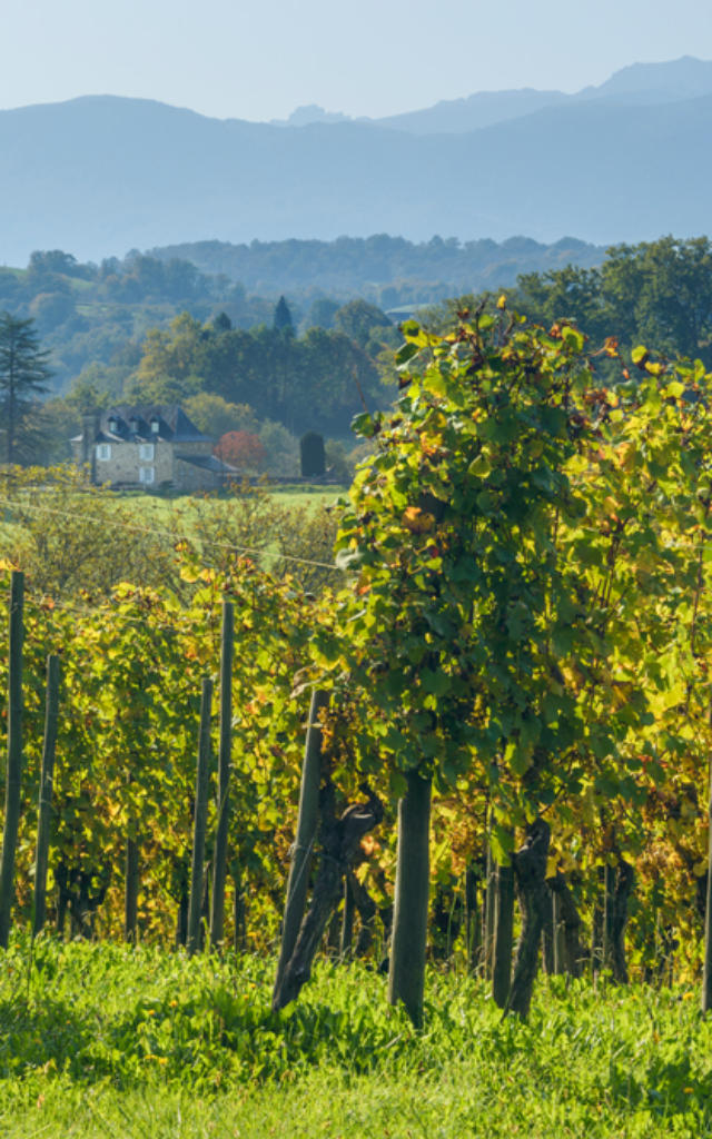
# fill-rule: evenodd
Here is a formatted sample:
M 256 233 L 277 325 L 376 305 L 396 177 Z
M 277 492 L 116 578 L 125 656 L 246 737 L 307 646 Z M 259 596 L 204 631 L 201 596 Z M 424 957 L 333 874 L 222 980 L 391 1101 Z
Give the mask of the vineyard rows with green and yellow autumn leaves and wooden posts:
M 322 959 L 387 974 L 414 1041 L 426 962 L 513 1025 L 540 970 L 583 1018 L 586 977 L 706 1011 L 712 375 L 505 297 L 403 333 L 333 511 L 243 491 L 164 532 L 7 476 L 8 961 L 275 954 L 287 1035 Z

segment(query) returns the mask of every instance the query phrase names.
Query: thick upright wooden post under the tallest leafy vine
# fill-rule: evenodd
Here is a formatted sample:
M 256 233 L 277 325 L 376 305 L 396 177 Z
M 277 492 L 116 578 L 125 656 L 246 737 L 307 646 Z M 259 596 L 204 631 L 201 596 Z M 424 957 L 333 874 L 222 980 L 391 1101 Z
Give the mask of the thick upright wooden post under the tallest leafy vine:
M 398 804 L 398 855 L 388 1001 L 402 1000 L 414 1025 L 423 1024 L 425 949 L 429 893 L 431 786 L 417 771 Z

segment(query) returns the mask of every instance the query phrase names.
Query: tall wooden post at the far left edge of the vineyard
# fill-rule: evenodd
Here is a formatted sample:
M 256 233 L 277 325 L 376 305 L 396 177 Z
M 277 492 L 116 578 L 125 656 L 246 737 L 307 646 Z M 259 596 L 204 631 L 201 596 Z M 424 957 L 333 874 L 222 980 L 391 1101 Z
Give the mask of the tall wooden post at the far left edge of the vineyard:
M 10 642 L 8 678 L 8 753 L 5 792 L 5 828 L 0 861 L 0 948 L 7 949 L 15 886 L 15 852 L 19 828 L 23 770 L 23 611 L 25 575 L 13 571 L 10 585 Z

